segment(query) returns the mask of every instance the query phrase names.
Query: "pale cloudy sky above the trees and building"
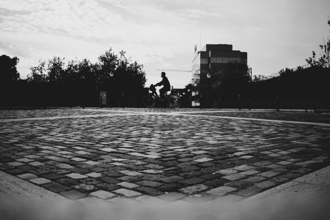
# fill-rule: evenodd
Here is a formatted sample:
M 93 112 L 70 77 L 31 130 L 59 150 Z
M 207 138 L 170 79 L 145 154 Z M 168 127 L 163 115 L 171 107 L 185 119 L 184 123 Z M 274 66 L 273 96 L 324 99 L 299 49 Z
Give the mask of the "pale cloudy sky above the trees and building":
M 232 44 L 247 52 L 253 75 L 307 64 L 330 35 L 329 0 L 1 0 L 0 55 L 17 56 L 21 78 L 54 56 L 97 62 L 112 48 L 160 70 L 191 70 L 194 48 Z M 190 72 L 165 71 L 174 88 Z

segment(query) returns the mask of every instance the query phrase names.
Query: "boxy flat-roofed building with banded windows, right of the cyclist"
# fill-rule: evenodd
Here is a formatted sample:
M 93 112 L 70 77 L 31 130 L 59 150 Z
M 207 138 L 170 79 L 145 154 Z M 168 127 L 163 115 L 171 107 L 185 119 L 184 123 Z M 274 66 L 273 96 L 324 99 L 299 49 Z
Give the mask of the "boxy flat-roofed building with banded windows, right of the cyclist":
M 231 44 L 206 44 L 195 54 L 192 62 L 193 82 L 206 96 L 220 96 L 221 92 L 228 93 L 229 87 L 234 89 L 240 87 L 242 81 L 251 80 L 247 52 L 233 50 Z

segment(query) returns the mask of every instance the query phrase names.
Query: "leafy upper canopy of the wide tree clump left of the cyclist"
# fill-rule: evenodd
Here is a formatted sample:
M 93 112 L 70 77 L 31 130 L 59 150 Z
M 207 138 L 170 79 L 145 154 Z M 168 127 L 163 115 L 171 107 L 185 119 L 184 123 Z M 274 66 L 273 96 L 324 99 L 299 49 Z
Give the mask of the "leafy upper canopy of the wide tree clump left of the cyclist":
M 106 84 L 111 77 L 125 87 L 143 88 L 146 83 L 143 65 L 126 57 L 125 51 L 115 54 L 112 49 L 106 50 L 98 57 L 98 62 L 91 63 L 88 59 L 71 60 L 53 57 L 51 60 L 39 61 L 37 66 L 30 67 L 27 76 L 29 82 L 62 82 L 86 83 L 93 85 Z M 110 75 L 111 74 L 111 75 Z

